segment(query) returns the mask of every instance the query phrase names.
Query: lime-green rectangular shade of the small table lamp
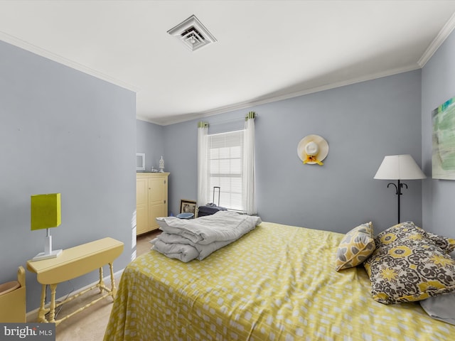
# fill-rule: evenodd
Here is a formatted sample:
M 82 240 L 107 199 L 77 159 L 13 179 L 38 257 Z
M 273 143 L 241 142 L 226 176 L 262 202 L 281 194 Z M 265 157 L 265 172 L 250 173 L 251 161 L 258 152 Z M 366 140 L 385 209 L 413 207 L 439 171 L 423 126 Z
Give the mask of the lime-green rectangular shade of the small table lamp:
M 58 227 L 60 223 L 60 193 L 31 195 L 32 231 Z

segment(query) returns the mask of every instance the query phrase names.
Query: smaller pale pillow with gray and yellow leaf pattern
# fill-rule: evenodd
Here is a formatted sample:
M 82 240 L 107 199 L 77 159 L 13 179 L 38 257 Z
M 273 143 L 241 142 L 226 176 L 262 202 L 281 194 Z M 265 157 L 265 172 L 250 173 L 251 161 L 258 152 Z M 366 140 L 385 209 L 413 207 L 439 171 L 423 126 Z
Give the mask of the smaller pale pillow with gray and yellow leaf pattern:
M 352 268 L 362 264 L 375 250 L 373 224 L 367 222 L 354 227 L 343 238 L 336 251 L 335 270 Z

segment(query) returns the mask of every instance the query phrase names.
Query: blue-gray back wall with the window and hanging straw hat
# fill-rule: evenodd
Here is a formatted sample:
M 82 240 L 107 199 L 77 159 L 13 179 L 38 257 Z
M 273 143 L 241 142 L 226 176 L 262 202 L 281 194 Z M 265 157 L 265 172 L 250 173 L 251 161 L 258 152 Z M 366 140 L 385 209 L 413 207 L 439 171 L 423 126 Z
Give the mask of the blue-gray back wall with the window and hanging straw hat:
M 375 232 L 397 222 L 395 190 L 374 180 L 385 155 L 410 153 L 421 161 L 421 72 L 405 72 L 333 90 L 207 117 L 209 132 L 220 122 L 254 110 L 257 210 L 262 220 L 347 232 L 373 221 Z M 217 124 L 218 123 L 218 124 Z M 235 129 L 235 128 L 233 128 Z M 319 134 L 330 146 L 324 166 L 303 165 L 297 144 Z M 169 205 L 196 200 L 197 120 L 164 127 Z M 402 220 L 422 224 L 422 183 L 407 182 Z

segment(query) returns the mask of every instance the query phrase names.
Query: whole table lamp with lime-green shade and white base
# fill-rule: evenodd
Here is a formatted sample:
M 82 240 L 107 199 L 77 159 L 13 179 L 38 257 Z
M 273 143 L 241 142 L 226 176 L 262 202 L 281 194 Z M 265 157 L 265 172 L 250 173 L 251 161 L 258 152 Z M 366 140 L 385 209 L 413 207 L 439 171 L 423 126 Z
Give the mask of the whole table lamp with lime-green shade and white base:
M 61 223 L 60 193 L 31 195 L 31 230 L 46 229 L 44 252 L 33 257 L 33 261 L 55 258 L 62 250 L 52 249 L 51 227 Z

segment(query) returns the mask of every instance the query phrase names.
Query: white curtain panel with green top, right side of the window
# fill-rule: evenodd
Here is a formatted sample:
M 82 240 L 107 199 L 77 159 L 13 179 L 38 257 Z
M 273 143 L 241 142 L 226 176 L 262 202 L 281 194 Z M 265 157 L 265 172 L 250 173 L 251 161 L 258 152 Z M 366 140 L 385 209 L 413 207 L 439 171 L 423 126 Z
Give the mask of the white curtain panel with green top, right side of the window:
M 255 215 L 255 112 L 249 112 L 245 121 L 243 140 L 242 205 L 248 215 Z

